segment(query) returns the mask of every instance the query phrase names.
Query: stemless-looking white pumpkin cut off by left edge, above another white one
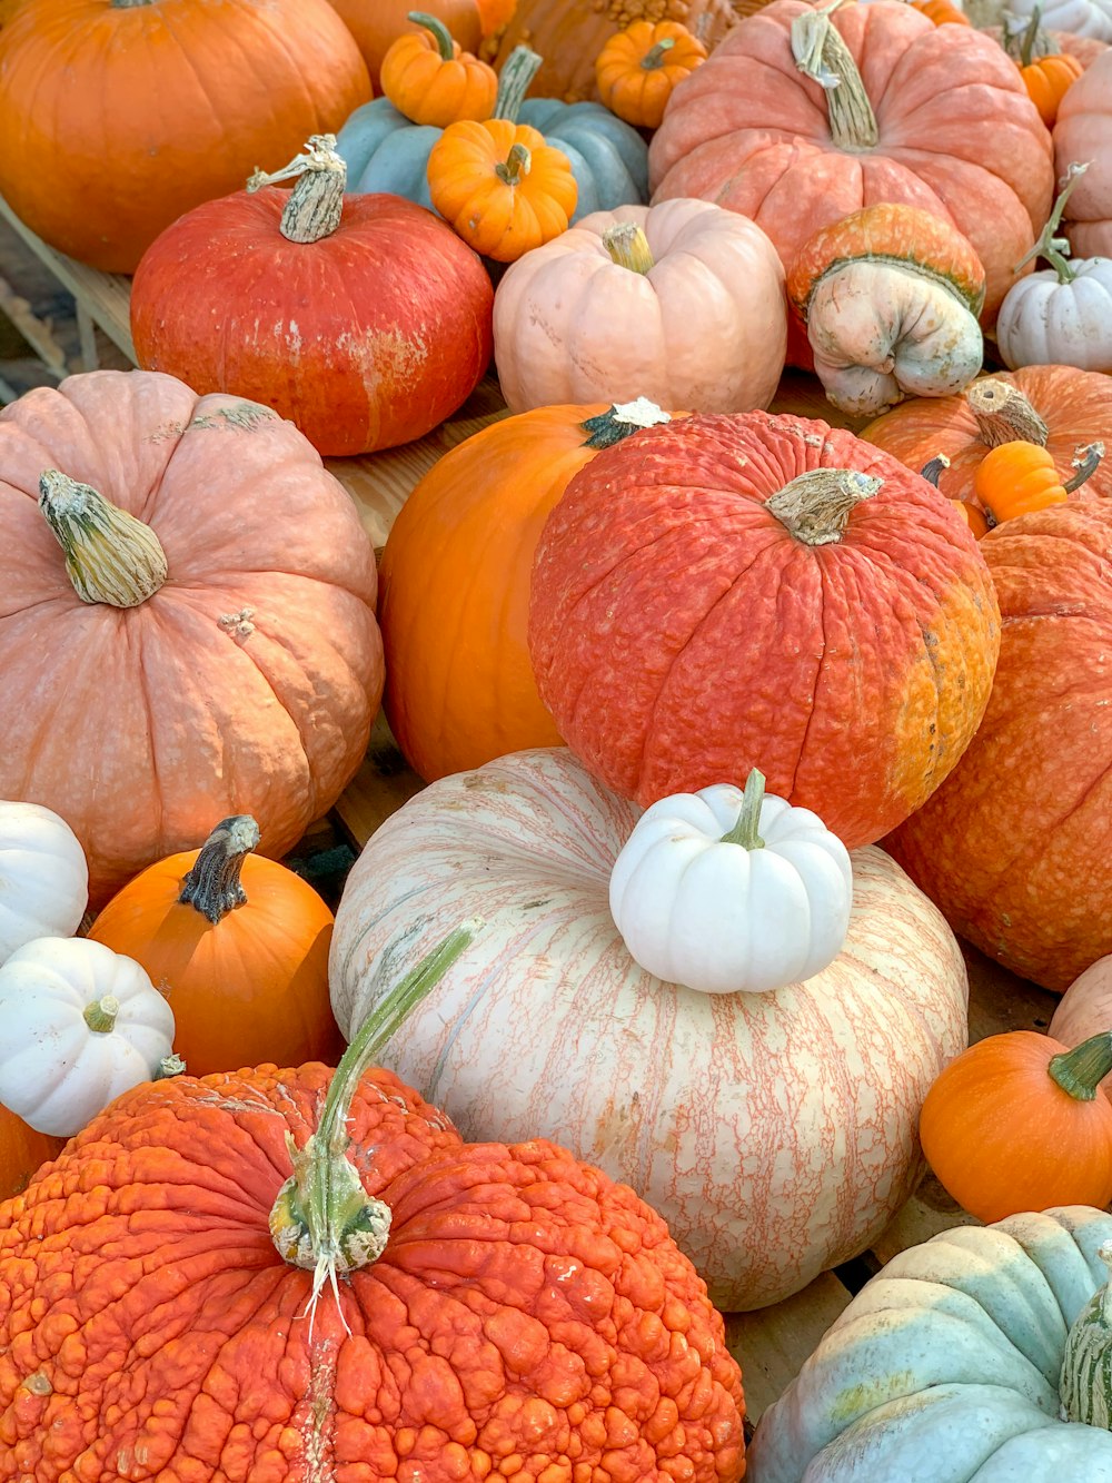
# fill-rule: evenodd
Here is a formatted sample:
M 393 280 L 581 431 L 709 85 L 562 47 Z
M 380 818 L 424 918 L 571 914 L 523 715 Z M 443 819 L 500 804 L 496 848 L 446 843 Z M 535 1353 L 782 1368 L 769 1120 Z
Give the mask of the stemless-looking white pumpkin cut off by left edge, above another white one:
M 0 802 L 0 964 L 36 937 L 73 937 L 87 905 L 89 866 L 67 822 Z

